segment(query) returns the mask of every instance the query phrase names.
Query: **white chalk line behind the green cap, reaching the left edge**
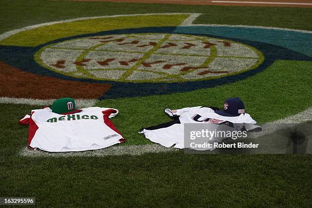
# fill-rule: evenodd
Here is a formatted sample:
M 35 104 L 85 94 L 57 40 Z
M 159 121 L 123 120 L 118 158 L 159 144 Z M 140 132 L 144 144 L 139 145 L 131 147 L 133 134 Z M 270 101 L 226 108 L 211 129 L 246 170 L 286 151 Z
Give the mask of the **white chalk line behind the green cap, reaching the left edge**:
M 27 105 L 51 105 L 56 99 L 40 100 L 40 99 L 30 99 L 30 98 L 7 98 L 0 97 L 0 103 L 5 104 L 27 104 Z M 94 106 L 97 99 L 75 99 L 75 104 L 77 108 L 87 108 Z

